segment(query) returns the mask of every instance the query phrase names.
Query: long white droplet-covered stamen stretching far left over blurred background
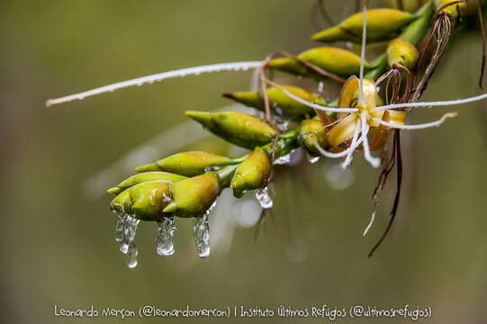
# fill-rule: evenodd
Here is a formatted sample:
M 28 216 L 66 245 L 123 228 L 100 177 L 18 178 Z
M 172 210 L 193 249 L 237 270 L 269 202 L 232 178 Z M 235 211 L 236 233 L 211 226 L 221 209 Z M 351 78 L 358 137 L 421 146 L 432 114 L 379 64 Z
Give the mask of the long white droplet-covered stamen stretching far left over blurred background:
M 133 85 L 144 85 L 148 83 L 159 82 L 172 77 L 183 77 L 183 76 L 199 75 L 202 73 L 221 72 L 221 71 L 245 71 L 250 68 L 260 67 L 261 65 L 262 65 L 261 61 L 248 61 L 248 62 L 212 64 L 212 65 L 207 65 L 202 67 L 181 68 L 173 71 L 158 73 L 151 76 L 141 76 L 131 80 L 118 82 L 113 85 L 104 85 L 79 94 L 71 94 L 58 99 L 50 99 L 46 102 L 46 106 L 49 107 L 51 105 L 58 104 L 58 103 L 68 103 L 73 100 L 83 100 L 88 96 L 113 92 L 115 90 L 122 89 L 128 86 L 133 86 Z

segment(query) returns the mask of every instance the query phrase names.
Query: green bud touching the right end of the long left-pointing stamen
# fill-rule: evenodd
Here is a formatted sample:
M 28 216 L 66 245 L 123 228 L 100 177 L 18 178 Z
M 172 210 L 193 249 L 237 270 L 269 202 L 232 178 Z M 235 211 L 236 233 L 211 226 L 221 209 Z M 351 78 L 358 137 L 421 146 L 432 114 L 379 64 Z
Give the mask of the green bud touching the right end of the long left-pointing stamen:
M 298 58 L 338 76 L 352 76 L 360 72 L 360 57 L 347 49 L 333 47 L 308 49 Z M 275 58 L 269 62 L 269 67 L 297 76 L 322 78 L 293 58 Z M 370 67 L 370 64 L 365 62 L 365 68 Z

